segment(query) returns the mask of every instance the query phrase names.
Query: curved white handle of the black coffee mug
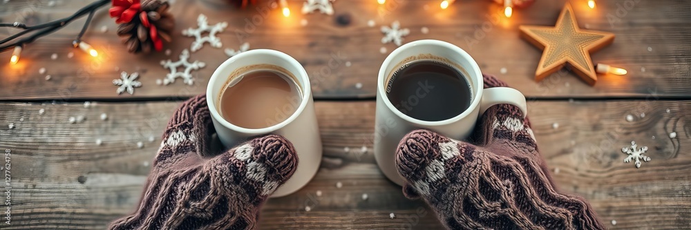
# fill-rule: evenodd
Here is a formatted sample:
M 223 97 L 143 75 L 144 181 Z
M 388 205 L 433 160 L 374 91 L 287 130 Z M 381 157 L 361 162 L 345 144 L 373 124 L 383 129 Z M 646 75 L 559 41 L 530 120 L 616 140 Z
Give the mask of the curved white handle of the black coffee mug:
M 483 115 L 489 107 L 495 104 L 511 104 L 520 109 L 523 118 L 528 115 L 525 96 L 515 88 L 485 88 L 482 93 L 482 99 L 480 99 L 480 115 Z

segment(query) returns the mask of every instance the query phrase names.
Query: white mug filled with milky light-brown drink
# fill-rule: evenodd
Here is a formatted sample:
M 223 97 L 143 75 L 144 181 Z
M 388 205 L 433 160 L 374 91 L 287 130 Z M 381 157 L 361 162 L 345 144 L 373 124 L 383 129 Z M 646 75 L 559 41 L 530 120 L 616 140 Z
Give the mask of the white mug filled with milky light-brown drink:
M 225 147 L 257 135 L 289 140 L 299 165 L 272 197 L 297 191 L 310 182 L 321 163 L 310 78 L 294 58 L 276 50 L 249 50 L 220 64 L 207 86 L 207 104 L 218 139 Z

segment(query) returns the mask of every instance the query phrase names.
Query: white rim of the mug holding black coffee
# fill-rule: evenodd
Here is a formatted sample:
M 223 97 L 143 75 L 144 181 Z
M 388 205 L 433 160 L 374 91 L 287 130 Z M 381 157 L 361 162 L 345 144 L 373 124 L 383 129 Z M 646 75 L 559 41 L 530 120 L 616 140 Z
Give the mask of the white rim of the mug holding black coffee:
M 468 64 L 470 64 L 472 70 L 467 71 L 468 75 L 475 75 L 475 80 L 478 82 L 476 85 L 472 87 L 473 91 L 473 102 L 471 102 L 470 106 L 466 108 L 463 113 L 460 113 L 459 115 L 455 115 L 454 117 L 448 118 L 448 119 L 443 119 L 440 121 L 424 121 L 422 119 L 417 119 L 414 117 L 410 117 L 404 113 L 401 113 L 398 109 L 396 109 L 395 106 L 391 103 L 391 101 L 388 99 L 386 96 L 386 90 L 384 89 L 384 86 L 386 86 L 386 78 L 388 77 L 388 73 L 386 73 L 386 68 L 391 64 L 391 61 L 395 57 L 399 57 L 401 55 L 401 52 L 404 52 L 404 50 L 407 50 L 408 48 L 413 48 L 415 46 L 439 46 L 442 48 L 448 48 L 449 50 L 452 50 L 455 52 L 457 55 L 460 55 L 462 59 L 465 61 L 468 61 Z M 422 53 L 419 53 L 422 54 Z M 419 55 L 418 54 L 418 55 Z M 435 55 L 434 53 L 430 52 L 431 55 Z M 406 57 L 404 57 L 406 58 Z M 472 77 L 472 76 L 468 76 Z M 452 124 L 454 122 L 459 121 L 460 119 L 463 119 L 464 117 L 467 117 L 468 115 L 471 115 L 473 111 L 475 111 L 475 108 L 478 108 L 480 105 L 480 99 L 482 97 L 482 90 L 484 89 L 484 81 L 482 79 L 482 72 L 480 71 L 480 66 L 477 66 L 477 62 L 475 62 L 475 59 L 471 57 L 471 55 L 468 54 L 465 50 L 462 48 L 455 46 L 454 44 L 448 43 L 446 41 L 440 41 L 440 40 L 435 40 L 435 39 L 423 39 L 423 40 L 417 40 L 417 41 L 410 41 L 407 44 L 404 44 L 403 46 L 400 46 L 399 48 L 396 48 L 396 50 L 393 50 L 386 59 L 384 59 L 384 63 L 381 64 L 381 67 L 379 68 L 379 75 L 377 77 L 377 93 L 381 95 L 382 100 L 384 101 L 384 104 L 386 104 L 386 107 L 392 111 L 395 115 L 398 117 L 401 117 L 402 119 L 406 120 L 407 122 L 415 123 L 415 124 L 420 124 L 423 126 L 443 126 L 447 124 Z

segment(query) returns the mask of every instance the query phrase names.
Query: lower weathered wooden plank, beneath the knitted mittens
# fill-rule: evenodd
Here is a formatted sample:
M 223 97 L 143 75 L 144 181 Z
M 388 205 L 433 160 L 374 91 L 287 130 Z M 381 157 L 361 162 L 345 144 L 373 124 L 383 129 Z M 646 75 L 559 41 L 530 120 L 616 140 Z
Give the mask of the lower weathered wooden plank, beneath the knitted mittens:
M 133 211 L 162 129 L 178 104 L 0 104 L 0 147 L 12 151 L 13 169 L 12 225 L 3 229 L 103 229 Z M 261 229 L 441 227 L 429 207 L 404 198 L 400 187 L 379 172 L 368 139 L 374 102 L 315 105 L 325 163 L 305 188 L 269 200 Z M 108 114 L 106 121 L 99 119 L 101 113 Z M 553 173 L 556 184 L 587 198 L 612 229 L 688 228 L 688 113 L 691 105 L 680 101 L 529 103 L 540 150 L 558 172 Z M 79 115 L 86 120 L 69 124 L 69 117 Z M 634 121 L 627 122 L 627 115 Z M 672 132 L 676 137 L 669 137 Z M 154 142 L 147 140 L 151 135 Z M 95 144 L 98 138 L 102 146 Z M 650 149 L 652 161 L 640 169 L 623 163 L 621 148 L 632 140 Z M 140 141 L 144 148 L 137 148 Z M 362 193 L 369 199 L 361 200 Z M 396 219 L 388 218 L 391 212 Z

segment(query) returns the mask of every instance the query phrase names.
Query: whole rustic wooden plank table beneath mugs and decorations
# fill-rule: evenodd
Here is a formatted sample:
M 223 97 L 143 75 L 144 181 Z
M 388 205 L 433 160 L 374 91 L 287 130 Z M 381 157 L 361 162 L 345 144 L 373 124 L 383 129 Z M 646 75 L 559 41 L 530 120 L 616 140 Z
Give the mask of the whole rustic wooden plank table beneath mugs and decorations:
M 89 2 L 12 0 L 0 3 L 0 22 L 52 21 Z M 84 19 L 27 46 L 17 65 L 6 64 L 9 52 L 0 53 L 0 148 L 12 153 L 12 222 L 0 224 L 1 229 L 104 229 L 133 211 L 172 111 L 203 93 L 215 67 L 227 59 L 223 49 L 207 45 L 191 54 L 207 63 L 194 73 L 192 86 L 181 81 L 155 84 L 167 73 L 159 62 L 175 60 L 189 48 L 193 39 L 180 31 L 196 27 L 201 13 L 211 23 L 229 23 L 218 35 L 224 48 L 236 49 L 247 41 L 251 48 L 287 52 L 312 78 L 323 164 L 303 189 L 267 202 L 261 229 L 442 228 L 426 204 L 407 200 L 399 186 L 384 178 L 368 139 L 374 127 L 375 76 L 396 48 L 381 44 L 379 27 L 396 20 L 411 30 L 405 41 L 456 44 L 484 73 L 498 75 L 529 97 L 533 130 L 556 183 L 566 193 L 587 198 L 608 227 L 691 226 L 691 4 L 686 1 L 599 0 L 589 10 L 585 0 L 572 0 L 582 28 L 616 34 L 614 44 L 592 59 L 629 70 L 621 77 L 600 75 L 594 87 L 565 72 L 533 81 L 542 52 L 518 37 L 518 25 L 552 26 L 564 0 L 537 1 L 516 10 L 511 19 L 498 19 L 500 6 L 481 0 L 457 1 L 444 11 L 437 1 L 397 0 L 382 7 L 374 0 L 337 0 L 333 16 L 301 15 L 301 2 L 290 1 L 290 18 L 278 10 L 256 16 L 254 9 L 236 10 L 219 2 L 172 4 L 177 24 L 169 56 L 128 54 L 106 10 L 95 15 L 84 36 L 100 50 L 97 59 L 70 47 Z M 377 26 L 368 26 L 369 20 Z M 3 28 L 0 37 L 16 31 Z M 388 52 L 380 53 L 381 47 Z M 337 66 L 328 65 L 331 59 Z M 40 74 L 40 68 L 46 73 Z M 120 71 L 141 73 L 143 86 L 134 95 L 115 93 L 111 82 Z M 84 108 L 84 102 L 91 107 Z M 99 118 L 102 113 L 108 114 L 106 121 Z M 68 122 L 79 116 L 86 120 Z M 154 142 L 148 141 L 151 136 Z M 102 145 L 95 144 L 97 139 Z M 623 162 L 621 148 L 631 141 L 649 148 L 652 161 L 640 169 Z M 337 182 L 343 184 L 340 189 Z M 323 195 L 314 195 L 316 191 Z M 363 193 L 368 200 L 361 199 Z M 311 211 L 304 211 L 305 205 Z M 416 214 L 422 210 L 426 215 Z M 389 213 L 398 218 L 388 218 Z M 616 225 L 609 224 L 614 220 Z

